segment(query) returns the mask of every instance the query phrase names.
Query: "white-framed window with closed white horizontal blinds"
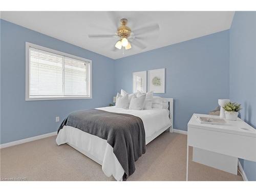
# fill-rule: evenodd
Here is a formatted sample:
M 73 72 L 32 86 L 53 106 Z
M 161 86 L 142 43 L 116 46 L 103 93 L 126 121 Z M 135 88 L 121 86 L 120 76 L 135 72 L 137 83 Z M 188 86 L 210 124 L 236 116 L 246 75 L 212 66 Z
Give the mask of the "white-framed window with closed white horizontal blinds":
M 26 42 L 26 100 L 92 98 L 92 61 Z

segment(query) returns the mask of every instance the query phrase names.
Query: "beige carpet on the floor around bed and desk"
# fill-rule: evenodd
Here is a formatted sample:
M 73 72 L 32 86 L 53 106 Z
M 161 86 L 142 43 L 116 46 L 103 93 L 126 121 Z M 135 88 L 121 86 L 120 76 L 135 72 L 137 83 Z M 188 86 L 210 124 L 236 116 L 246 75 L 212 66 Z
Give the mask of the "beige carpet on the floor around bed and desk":
M 56 136 L 24 143 L 1 150 L 1 178 L 23 177 L 27 180 L 105 181 L 101 166 L 63 144 Z M 186 177 L 186 135 L 165 132 L 146 146 L 136 162 L 136 171 L 129 181 L 184 181 Z M 189 161 L 189 180 L 241 181 L 233 175 Z

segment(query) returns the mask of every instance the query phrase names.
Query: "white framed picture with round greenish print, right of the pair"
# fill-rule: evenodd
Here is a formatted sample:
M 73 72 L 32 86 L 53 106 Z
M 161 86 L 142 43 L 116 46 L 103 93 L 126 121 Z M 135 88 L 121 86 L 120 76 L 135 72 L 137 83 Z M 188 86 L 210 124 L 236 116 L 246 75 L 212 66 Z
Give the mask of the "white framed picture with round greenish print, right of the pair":
M 165 93 L 165 69 L 148 70 L 148 92 Z

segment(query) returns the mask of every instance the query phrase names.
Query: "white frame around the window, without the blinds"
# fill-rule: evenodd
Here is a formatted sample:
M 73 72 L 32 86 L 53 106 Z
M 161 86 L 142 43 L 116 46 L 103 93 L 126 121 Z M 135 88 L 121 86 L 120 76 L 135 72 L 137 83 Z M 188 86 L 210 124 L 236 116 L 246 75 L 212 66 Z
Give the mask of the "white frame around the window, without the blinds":
M 69 57 L 69 58 L 73 58 L 73 59 L 77 59 L 77 60 L 81 60 L 81 61 L 85 61 L 85 62 L 90 62 L 90 64 L 87 64 L 87 86 L 88 86 L 88 92 L 89 92 L 89 96 L 84 96 L 84 95 L 77 95 L 77 96 L 69 96 L 69 95 L 63 95 L 63 96 L 51 96 L 51 97 L 36 97 L 36 98 L 32 98 L 29 95 L 29 86 L 30 86 L 30 55 L 29 55 L 29 48 L 34 48 L 34 49 L 38 49 L 41 51 L 46 51 L 49 53 L 53 53 L 53 54 L 57 54 L 60 55 L 62 57 Z M 63 69 L 64 72 L 65 69 Z M 65 77 L 63 77 L 65 78 Z M 35 45 L 32 44 L 31 42 L 26 42 L 26 90 L 25 90 L 25 100 L 26 101 L 35 101 L 35 100 L 62 100 L 62 99 L 92 99 L 92 60 L 90 59 L 86 59 L 86 58 L 82 58 L 82 57 L 78 57 L 75 55 L 71 55 L 68 53 L 64 53 L 61 51 L 57 51 L 57 50 L 53 50 L 50 48 L 46 48 L 46 47 L 42 47 L 39 45 Z

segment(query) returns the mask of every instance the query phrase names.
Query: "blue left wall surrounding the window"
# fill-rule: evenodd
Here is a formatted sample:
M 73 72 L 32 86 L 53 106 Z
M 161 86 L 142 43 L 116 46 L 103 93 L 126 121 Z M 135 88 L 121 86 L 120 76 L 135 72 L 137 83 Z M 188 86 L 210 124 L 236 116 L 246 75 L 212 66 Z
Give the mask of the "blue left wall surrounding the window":
M 93 99 L 25 101 L 25 42 L 93 61 Z M 114 93 L 114 60 L 1 20 L 1 143 L 57 130 L 74 110 L 108 105 Z

